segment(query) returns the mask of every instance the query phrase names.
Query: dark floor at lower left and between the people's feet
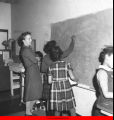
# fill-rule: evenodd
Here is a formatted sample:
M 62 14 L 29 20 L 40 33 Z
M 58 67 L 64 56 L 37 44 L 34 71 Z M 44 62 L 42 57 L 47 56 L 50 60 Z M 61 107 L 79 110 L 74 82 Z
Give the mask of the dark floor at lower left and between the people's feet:
M 39 116 L 42 116 L 41 114 Z M 0 116 L 25 116 L 25 104 L 20 104 L 19 90 L 15 91 L 13 97 L 10 91 L 0 92 Z M 47 116 L 54 116 L 54 113 L 49 111 Z

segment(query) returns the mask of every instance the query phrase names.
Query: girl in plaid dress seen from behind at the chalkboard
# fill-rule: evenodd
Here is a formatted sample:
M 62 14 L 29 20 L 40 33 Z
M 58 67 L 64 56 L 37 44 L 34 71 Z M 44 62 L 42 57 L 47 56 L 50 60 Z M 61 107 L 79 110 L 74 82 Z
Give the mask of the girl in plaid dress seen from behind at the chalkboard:
M 53 61 L 48 72 L 48 80 L 51 84 L 50 109 L 56 111 L 55 116 L 60 116 L 63 111 L 70 111 L 71 116 L 76 116 L 75 98 L 69 82 L 69 77 L 72 80 L 75 77 L 69 64 L 60 59 L 62 54 L 58 46 L 53 47 L 50 54 Z

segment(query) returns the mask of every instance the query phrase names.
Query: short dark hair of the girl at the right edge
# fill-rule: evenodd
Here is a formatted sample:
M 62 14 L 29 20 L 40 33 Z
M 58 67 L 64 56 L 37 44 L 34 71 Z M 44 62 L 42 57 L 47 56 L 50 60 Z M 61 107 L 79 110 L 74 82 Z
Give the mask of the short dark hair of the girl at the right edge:
M 99 55 L 99 62 L 101 64 L 103 64 L 104 60 L 105 60 L 105 56 L 106 55 L 110 56 L 112 54 L 113 54 L 113 46 L 108 46 L 108 47 L 104 48 Z

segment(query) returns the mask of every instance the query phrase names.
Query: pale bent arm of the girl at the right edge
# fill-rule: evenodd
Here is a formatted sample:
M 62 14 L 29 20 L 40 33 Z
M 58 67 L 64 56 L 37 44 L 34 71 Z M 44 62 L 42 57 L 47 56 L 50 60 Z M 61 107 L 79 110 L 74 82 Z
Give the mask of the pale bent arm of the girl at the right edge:
M 108 91 L 108 75 L 104 70 L 97 73 L 97 78 L 100 83 L 102 92 L 105 98 L 113 98 L 113 93 Z

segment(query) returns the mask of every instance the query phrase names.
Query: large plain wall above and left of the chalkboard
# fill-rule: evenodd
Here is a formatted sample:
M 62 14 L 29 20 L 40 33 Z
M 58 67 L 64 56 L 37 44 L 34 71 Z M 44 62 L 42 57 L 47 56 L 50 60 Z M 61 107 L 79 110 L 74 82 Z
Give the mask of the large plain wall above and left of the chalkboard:
M 12 5 L 12 32 L 31 31 L 37 50 L 50 40 L 50 25 L 113 7 L 113 0 L 19 0 Z

